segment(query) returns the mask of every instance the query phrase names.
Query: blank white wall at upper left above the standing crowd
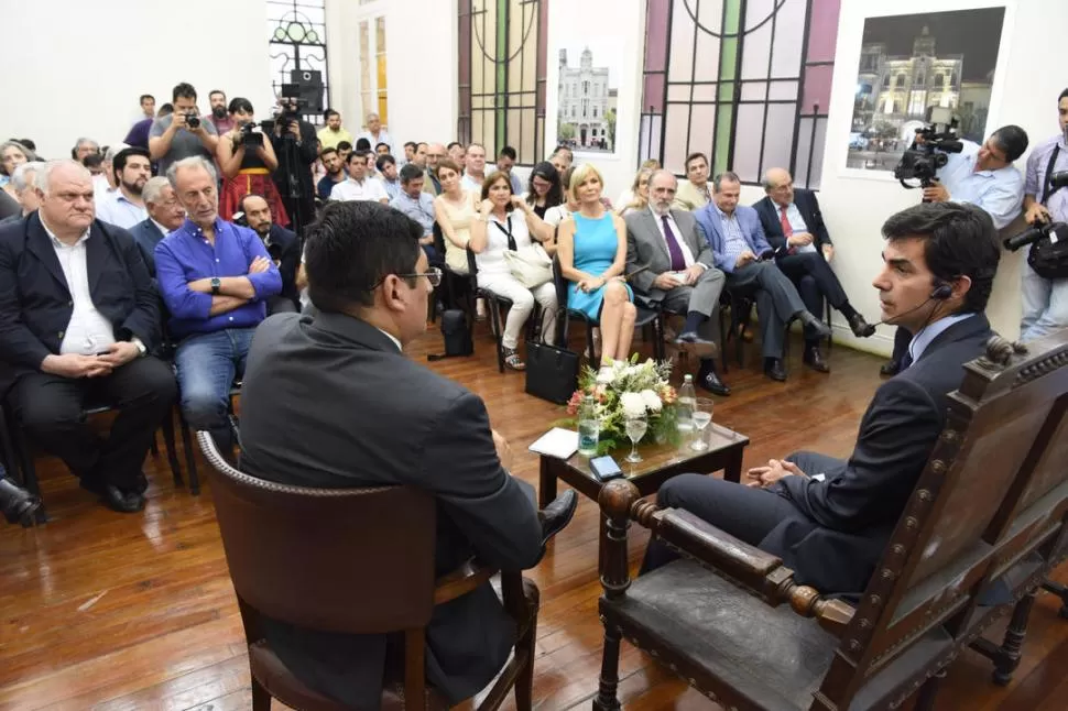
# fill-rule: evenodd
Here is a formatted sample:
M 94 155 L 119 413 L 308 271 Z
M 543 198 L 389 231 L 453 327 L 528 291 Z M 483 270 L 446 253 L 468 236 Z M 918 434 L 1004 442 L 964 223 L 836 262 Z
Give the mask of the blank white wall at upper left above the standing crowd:
M 171 100 L 179 81 L 243 96 L 264 118 L 273 101 L 263 0 L 6 0 L 0 136 L 30 138 L 65 157 L 80 135 L 126 138 L 138 97 Z

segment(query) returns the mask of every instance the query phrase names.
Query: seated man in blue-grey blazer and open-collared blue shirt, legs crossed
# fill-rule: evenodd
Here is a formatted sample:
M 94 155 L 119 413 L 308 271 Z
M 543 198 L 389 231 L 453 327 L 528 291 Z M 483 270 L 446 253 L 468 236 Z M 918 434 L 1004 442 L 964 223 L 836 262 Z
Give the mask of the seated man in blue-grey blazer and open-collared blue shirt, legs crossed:
M 698 229 L 716 255 L 716 266 L 727 275 L 727 288 L 753 294 L 760 318 L 764 374 L 786 380 L 783 348 L 786 325 L 799 319 L 816 338 L 830 329 L 805 308 L 797 288 L 775 265 L 775 250 L 764 238 L 760 216 L 738 204 L 742 184 L 733 173 L 720 173 L 712 181 L 712 201 L 694 212 Z

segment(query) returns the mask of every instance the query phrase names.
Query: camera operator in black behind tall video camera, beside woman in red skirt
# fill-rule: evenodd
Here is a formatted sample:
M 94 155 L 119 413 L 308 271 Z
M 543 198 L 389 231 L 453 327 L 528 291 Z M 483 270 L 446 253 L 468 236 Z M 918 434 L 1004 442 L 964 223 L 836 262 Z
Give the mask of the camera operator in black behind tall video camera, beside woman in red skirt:
M 297 233 L 315 219 L 315 179 L 312 166 L 319 157 L 319 141 L 315 127 L 301 118 L 297 99 L 279 99 L 279 114 L 271 132 L 271 143 L 279 158 L 274 185 Z

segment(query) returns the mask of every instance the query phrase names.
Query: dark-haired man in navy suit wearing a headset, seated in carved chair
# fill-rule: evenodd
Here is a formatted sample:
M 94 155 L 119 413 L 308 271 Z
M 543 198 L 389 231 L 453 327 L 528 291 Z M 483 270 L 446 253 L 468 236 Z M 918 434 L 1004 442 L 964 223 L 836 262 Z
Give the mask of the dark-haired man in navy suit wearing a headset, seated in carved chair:
M 797 452 L 750 469 L 749 485 L 683 474 L 657 494 L 728 534 L 780 556 L 824 594 L 862 591 L 946 419 L 963 364 L 992 336 L 983 314 L 998 270 L 994 225 L 972 205 L 923 204 L 883 225 L 873 285 L 886 322 L 915 333 L 902 372 L 883 383 L 849 459 Z M 654 540 L 644 569 L 674 558 Z

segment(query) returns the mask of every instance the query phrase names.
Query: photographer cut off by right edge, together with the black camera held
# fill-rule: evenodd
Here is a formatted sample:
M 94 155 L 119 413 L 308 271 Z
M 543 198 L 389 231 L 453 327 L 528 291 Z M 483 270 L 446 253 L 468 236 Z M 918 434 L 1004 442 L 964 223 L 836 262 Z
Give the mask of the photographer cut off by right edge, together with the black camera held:
M 1059 229 L 1068 222 L 1068 190 L 1061 189 L 1068 184 L 1068 89 L 1057 97 L 1057 112 L 1060 133 L 1037 146 L 1027 158 L 1024 219 L 1031 229 L 1005 241 L 1012 250 L 1029 245 L 1021 280 L 1022 341 L 1068 328 L 1068 273 L 1060 273 L 1064 267 L 1057 269 L 1056 254 L 1049 255 L 1054 259 L 1040 259 L 1044 251 L 1055 252 L 1059 241 L 1068 238 L 1068 230 Z M 1051 240 L 1050 232 L 1059 239 Z

